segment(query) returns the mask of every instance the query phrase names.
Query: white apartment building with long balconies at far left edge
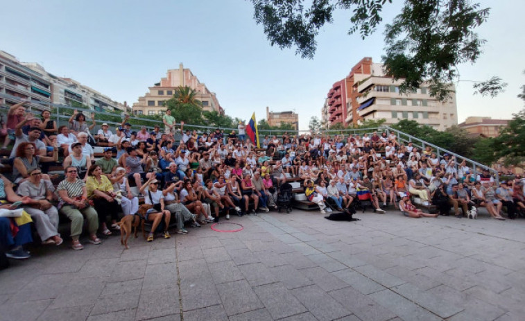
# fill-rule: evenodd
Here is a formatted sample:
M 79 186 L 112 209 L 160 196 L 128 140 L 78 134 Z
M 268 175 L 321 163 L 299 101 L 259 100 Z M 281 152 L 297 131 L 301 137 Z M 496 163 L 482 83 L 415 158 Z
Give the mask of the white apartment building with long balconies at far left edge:
M 52 85 L 46 77 L 21 64 L 14 55 L 0 51 L 0 105 L 24 99 L 31 110 L 45 110 L 52 102 Z

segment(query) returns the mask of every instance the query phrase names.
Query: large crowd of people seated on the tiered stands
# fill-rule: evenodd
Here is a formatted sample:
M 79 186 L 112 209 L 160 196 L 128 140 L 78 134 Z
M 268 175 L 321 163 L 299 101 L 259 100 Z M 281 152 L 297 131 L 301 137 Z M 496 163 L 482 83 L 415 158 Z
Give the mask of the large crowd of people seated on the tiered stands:
M 22 245 L 32 242 L 33 222 L 45 245 L 60 245 L 59 213 L 71 221 L 71 248 L 82 250 L 80 234 L 100 244 L 98 235 L 118 231 L 121 215 L 140 215 L 151 224 L 147 241 L 160 233 L 170 238 L 184 227 L 218 222 L 222 215 L 239 216 L 277 209 L 279 186 L 302 182 L 303 193 L 322 213 L 332 207 L 350 211 L 367 195 L 373 209 L 384 214 L 389 204 L 411 217 L 449 215 L 458 218 L 472 206 L 486 207 L 492 218 L 523 214 L 523 180 L 499 182 L 488 170 L 473 171 L 451 155 L 438 157 L 427 147 L 403 144 L 393 132 L 360 135 L 266 136 L 260 148 L 246 139 L 243 123 L 225 134 L 216 129 L 198 133 L 175 125 L 168 111 L 164 131 L 145 126 L 132 131 L 128 116 L 115 133 L 107 123 L 96 135 L 75 110 L 68 125 L 57 128 L 50 113 L 26 114 L 24 103 L 10 107 L 8 137 L 10 179 L 1 176 L 0 209 L 24 209 L 19 217 L 0 217 L 0 246 L 8 257 L 24 259 Z M 175 139 L 177 137 L 178 139 Z M 96 158 L 93 145 L 103 145 Z M 62 162 L 63 179 L 49 175 L 49 164 Z M 55 182 L 55 184 L 53 184 Z M 136 187 L 136 188 L 135 188 Z M 140 205 L 141 200 L 144 204 Z M 411 201 L 435 205 L 438 214 L 417 209 Z M 330 205 L 327 207 L 327 204 Z M 84 227 L 85 220 L 87 227 Z M 157 233 L 157 234 L 155 234 Z

